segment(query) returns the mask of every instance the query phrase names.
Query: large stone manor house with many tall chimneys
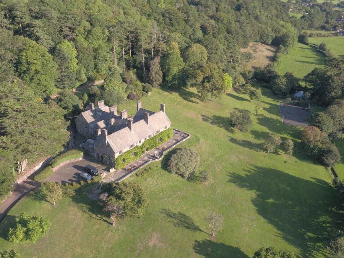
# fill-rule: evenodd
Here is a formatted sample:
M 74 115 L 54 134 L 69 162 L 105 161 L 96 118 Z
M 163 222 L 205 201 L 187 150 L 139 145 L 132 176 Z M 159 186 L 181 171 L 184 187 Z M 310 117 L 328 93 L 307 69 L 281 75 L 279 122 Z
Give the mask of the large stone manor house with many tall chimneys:
M 97 104 L 95 108 L 93 103 L 89 103 L 75 122 L 77 132 L 89 138 L 84 148 L 100 161 L 105 155 L 116 159 L 171 126 L 165 114 L 165 104 L 160 104 L 160 111 L 155 113 L 142 108 L 141 101 L 137 101 L 133 118 L 128 118 L 127 110 L 120 111 L 118 115 L 117 106 L 109 108 L 104 105 L 104 100 Z

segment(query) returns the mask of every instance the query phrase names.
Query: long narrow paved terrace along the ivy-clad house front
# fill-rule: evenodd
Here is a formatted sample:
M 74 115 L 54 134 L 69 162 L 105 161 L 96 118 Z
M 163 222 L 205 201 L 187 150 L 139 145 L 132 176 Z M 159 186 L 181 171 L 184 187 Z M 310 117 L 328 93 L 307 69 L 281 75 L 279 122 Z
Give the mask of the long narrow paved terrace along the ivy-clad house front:
M 172 139 L 164 142 L 157 148 L 154 148 L 153 150 L 146 152 L 140 158 L 129 163 L 124 168 L 120 170 L 116 170 L 112 173 L 109 173 L 108 175 L 104 177 L 103 181 L 107 183 L 122 181 L 128 178 L 131 174 L 135 173 L 138 169 L 147 165 L 148 163 L 152 161 L 160 160 L 166 151 L 169 151 L 171 148 L 175 147 L 177 144 L 189 138 L 190 138 L 189 133 L 182 132 L 182 134 L 180 134 L 180 130 L 173 129 Z

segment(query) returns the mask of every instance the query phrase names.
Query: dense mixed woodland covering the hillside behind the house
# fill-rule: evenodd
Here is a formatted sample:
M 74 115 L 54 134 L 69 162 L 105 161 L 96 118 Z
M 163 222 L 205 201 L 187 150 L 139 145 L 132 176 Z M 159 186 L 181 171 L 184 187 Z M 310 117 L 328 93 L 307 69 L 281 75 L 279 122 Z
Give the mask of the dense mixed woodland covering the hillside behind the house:
M 1 1 L 0 162 L 6 178 L 18 162 L 32 164 L 62 150 L 69 135 L 63 116 L 77 115 L 89 101 L 117 105 L 151 87 L 195 87 L 201 101 L 218 98 L 251 78 L 250 56 L 240 51 L 250 42 L 285 53 L 303 29 L 341 17 L 327 3 L 313 5 L 299 20 L 289 9 L 279 0 Z M 289 86 L 276 82 L 276 94 L 297 85 L 292 74 L 278 78 Z M 104 84 L 80 99 L 71 92 L 99 79 Z

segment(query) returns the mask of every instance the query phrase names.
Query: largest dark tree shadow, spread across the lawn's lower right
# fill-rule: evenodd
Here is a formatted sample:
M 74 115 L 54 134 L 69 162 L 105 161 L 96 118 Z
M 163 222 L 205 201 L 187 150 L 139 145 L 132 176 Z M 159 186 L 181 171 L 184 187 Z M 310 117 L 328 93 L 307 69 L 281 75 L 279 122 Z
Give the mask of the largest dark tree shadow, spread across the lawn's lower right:
M 343 217 L 342 200 L 333 186 L 262 166 L 245 171 L 228 172 L 228 182 L 255 193 L 251 202 L 277 229 L 275 234 L 298 248 L 301 257 L 325 255 L 327 234 L 341 227 Z

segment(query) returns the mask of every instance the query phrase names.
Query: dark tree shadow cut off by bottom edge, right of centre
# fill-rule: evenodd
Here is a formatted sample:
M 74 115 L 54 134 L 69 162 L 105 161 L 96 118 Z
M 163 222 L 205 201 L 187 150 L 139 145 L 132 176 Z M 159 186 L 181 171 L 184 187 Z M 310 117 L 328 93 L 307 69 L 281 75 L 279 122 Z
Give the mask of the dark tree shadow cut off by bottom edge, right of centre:
M 249 257 L 238 247 L 229 246 L 224 243 L 217 243 L 210 239 L 204 239 L 202 241 L 196 240 L 192 248 L 196 254 L 204 257 Z

